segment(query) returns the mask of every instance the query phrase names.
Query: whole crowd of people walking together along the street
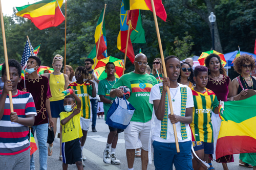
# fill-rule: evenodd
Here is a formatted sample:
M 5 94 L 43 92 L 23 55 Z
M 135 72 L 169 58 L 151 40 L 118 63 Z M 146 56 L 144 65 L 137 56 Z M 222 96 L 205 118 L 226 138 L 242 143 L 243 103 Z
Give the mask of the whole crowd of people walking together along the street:
M 76 164 L 83 169 L 87 158 L 82 150 L 87 139 L 92 119 L 92 132 L 96 130 L 98 104 L 103 103 L 104 117 L 117 97 L 131 90 L 127 101 L 136 109 L 129 126 L 117 129 L 109 126 L 108 140 L 103 151 L 103 162 L 118 165 L 115 150 L 119 133 L 124 132 L 127 169 L 134 169 L 135 157 L 141 158 L 140 169 L 147 169 L 154 156 L 156 169 L 207 169 L 210 170 L 214 154 L 212 113 L 218 114 L 220 101 L 239 100 L 248 89 L 256 89 L 256 78 L 250 76 L 255 67 L 252 56 L 242 55 L 234 61 L 234 69 L 240 74 L 232 81 L 216 54 L 205 59 L 205 66 L 196 66 L 193 60 L 181 63 L 176 56 L 164 59 L 167 77 L 163 74 L 162 60 L 156 58 L 153 67 L 148 65 L 144 54 L 135 56 L 134 71 L 115 77 L 115 64 L 105 64 L 107 77 L 98 80 L 92 68 L 94 60 L 86 59 L 84 66 L 75 70 L 66 65 L 66 74 L 61 72 L 63 57 L 53 58 L 53 72 L 39 75 L 41 60 L 30 56 L 27 61 L 25 80 L 21 79 L 22 68 L 14 59 L 9 60 L 10 80 L 7 80 L 6 64 L 2 67 L 3 90 L 0 91 L 0 167 L 1 169 L 35 169 L 33 154 L 30 157 L 28 127 L 36 132 L 40 169 L 47 169 L 48 156 L 53 154 L 53 143 L 47 146 L 48 131 L 57 132 L 60 122 L 60 153 L 62 168 Z M 172 108 L 167 98 L 169 88 Z M 62 91 L 69 89 L 70 95 Z M 13 112 L 9 94 L 12 92 Z M 4 109 L 2 109 L 4 108 Z M 170 114 L 173 110 L 174 114 Z M 176 124 L 180 153 L 177 153 L 174 128 Z M 191 146 L 196 153 L 191 152 Z M 200 159 L 202 161 L 200 161 Z M 216 160 L 227 170 L 233 155 Z M 186 163 L 184 163 L 186 162 Z M 256 154 L 240 154 L 241 166 L 256 170 Z

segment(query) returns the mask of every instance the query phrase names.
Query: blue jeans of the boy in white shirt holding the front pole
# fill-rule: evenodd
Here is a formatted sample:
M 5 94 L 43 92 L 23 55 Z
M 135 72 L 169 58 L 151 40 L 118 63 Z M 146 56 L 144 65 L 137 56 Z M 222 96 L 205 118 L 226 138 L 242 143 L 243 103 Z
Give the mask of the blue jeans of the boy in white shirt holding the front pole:
M 179 142 L 180 153 L 177 153 L 175 143 L 153 141 L 154 165 L 156 170 L 193 170 L 191 156 L 191 141 Z

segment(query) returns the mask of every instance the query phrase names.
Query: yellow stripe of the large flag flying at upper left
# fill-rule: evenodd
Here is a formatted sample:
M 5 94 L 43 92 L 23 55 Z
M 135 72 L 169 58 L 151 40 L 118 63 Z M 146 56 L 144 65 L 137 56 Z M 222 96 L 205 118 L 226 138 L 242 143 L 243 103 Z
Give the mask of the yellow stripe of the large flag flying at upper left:
M 51 2 L 48 4 L 35 4 L 31 5 L 28 8 L 25 8 L 24 10 L 19 11 L 16 13 L 17 16 L 24 16 L 24 15 L 30 15 L 32 18 L 44 16 L 44 15 L 55 15 L 55 9 L 58 7 L 61 8 L 63 4 L 63 0 L 58 0 L 58 3 Z M 44 6 L 42 6 L 44 5 Z

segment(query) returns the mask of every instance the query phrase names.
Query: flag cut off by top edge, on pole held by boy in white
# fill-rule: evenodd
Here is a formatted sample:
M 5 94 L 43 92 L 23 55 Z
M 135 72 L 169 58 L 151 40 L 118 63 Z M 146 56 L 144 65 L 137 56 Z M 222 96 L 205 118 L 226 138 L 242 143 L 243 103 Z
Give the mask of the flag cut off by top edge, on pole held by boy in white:
M 152 5 L 151 0 L 123 0 L 124 10 L 151 10 Z M 156 9 L 156 14 L 162 20 L 166 21 L 167 14 L 162 4 L 162 0 L 154 0 L 154 5 Z

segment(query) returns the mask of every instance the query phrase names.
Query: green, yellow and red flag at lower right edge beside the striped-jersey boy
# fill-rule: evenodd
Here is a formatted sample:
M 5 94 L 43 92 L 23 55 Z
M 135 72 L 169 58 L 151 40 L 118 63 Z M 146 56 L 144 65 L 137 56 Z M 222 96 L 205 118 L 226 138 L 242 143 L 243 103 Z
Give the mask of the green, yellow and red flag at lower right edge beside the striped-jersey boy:
M 232 154 L 256 152 L 256 95 L 241 101 L 224 102 L 216 159 Z

